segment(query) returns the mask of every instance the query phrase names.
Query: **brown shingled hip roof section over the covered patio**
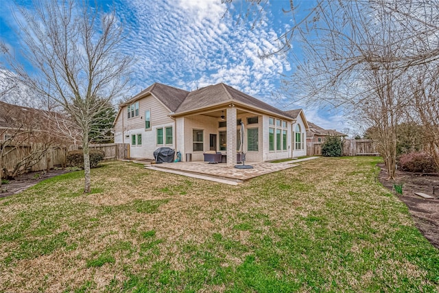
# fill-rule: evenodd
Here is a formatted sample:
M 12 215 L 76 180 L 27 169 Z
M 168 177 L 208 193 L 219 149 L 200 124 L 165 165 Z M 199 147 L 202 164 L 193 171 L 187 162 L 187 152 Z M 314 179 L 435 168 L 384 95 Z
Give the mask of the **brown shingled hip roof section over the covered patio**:
M 180 115 L 194 110 L 201 110 L 203 108 L 217 106 L 229 102 L 244 104 L 253 108 L 258 108 L 259 110 L 274 113 L 276 115 L 289 117 L 288 115 L 285 115 L 285 112 L 282 110 L 270 106 L 269 104 L 266 104 L 261 100 L 252 97 L 251 95 L 247 95 L 246 93 L 242 93 L 237 89 L 233 89 L 232 86 L 228 86 L 224 83 L 206 86 L 202 89 L 190 92 L 177 108 L 175 114 Z

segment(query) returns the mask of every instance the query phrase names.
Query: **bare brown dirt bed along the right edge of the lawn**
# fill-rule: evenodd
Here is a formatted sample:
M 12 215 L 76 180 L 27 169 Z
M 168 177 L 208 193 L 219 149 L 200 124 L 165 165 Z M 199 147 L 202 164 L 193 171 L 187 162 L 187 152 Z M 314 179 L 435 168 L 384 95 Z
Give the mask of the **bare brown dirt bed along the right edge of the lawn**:
M 409 208 L 419 231 L 431 244 L 439 248 L 439 174 L 425 176 L 425 174 L 398 170 L 396 180 L 393 181 L 386 180 L 387 172 L 384 164 L 381 163 L 378 166 L 381 167 L 379 181 L 385 187 L 392 190 L 394 184 L 403 185 L 403 195 L 398 196 L 399 199 Z M 414 194 L 415 192 L 434 196 L 434 199 L 420 198 Z

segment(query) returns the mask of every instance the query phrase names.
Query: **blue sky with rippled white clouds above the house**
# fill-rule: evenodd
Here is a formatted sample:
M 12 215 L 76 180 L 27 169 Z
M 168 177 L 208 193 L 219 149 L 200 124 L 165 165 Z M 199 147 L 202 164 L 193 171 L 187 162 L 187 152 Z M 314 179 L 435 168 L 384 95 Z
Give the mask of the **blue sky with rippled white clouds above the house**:
M 29 1 L 19 3 L 29 5 Z M 108 9 L 113 2 L 98 3 Z M 300 14 L 313 5 L 306 0 L 295 3 Z M 124 53 L 137 59 L 132 95 L 154 82 L 188 91 L 224 82 L 282 110 L 304 108 L 307 119 L 324 128 L 352 128 L 342 113 L 292 104 L 285 95 L 283 99 L 272 96 L 283 75 L 291 75 L 296 65 L 287 55 L 259 56 L 276 49 L 276 39 L 291 23 L 282 12 L 289 8 L 289 0 L 270 1 L 256 23 L 253 17 L 237 23 L 239 13 L 246 12 L 244 1 L 236 1 L 228 11 L 221 0 L 117 0 L 114 5 L 127 29 Z M 20 35 L 12 10 L 13 1 L 3 0 L 0 38 L 19 54 Z M 292 50 L 297 53 L 298 46 Z

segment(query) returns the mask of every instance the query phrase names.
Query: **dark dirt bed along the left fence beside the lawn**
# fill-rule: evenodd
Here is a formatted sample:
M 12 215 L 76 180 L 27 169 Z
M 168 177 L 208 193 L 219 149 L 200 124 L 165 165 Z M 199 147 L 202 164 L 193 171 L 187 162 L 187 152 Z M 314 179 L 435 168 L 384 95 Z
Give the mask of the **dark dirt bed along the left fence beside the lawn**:
M 54 176 L 70 172 L 68 169 L 50 170 L 47 172 L 31 172 L 17 176 L 10 180 L 8 184 L 2 184 L 0 189 L 0 198 L 12 196 L 19 192 L 36 185 L 36 183 Z

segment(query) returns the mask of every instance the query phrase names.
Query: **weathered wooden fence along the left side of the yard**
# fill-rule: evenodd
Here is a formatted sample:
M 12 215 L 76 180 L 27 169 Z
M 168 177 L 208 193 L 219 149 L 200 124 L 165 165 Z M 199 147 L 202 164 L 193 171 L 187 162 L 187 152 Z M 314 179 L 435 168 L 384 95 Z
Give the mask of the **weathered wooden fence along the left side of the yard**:
M 19 161 L 23 160 L 25 156 L 38 148 L 38 143 L 31 143 L 30 145 L 20 146 L 6 146 L 4 150 L 5 156 L 2 158 L 2 165 L 6 169 L 12 171 L 14 166 Z M 128 158 L 128 143 L 104 143 L 90 145 L 91 150 L 102 150 L 104 152 L 104 160 L 112 159 L 126 159 Z M 11 150 L 10 152 L 8 152 Z M 70 145 L 68 148 L 51 148 L 45 152 L 38 162 L 32 167 L 29 167 L 25 172 L 39 172 L 47 169 L 53 169 L 54 167 L 64 167 L 66 164 L 67 151 L 69 150 L 82 150 L 80 145 Z

